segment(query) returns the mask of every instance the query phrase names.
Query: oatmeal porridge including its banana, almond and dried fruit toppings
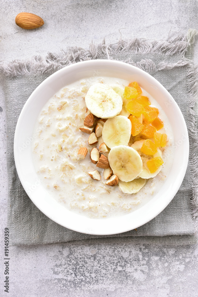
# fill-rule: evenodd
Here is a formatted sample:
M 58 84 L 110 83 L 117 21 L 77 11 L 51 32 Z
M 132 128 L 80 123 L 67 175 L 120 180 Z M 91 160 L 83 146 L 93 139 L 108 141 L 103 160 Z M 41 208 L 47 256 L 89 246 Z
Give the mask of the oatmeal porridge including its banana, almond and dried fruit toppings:
M 90 218 L 121 216 L 147 203 L 165 183 L 173 132 L 142 87 L 86 78 L 44 105 L 32 158 L 42 186 L 58 203 Z

